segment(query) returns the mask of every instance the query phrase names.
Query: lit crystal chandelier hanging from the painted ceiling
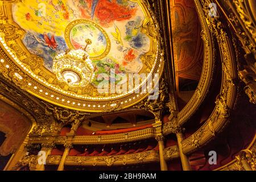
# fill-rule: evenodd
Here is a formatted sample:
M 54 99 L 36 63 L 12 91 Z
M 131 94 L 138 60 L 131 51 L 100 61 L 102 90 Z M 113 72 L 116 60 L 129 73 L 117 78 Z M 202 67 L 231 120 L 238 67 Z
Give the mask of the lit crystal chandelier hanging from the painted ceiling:
M 55 56 L 52 71 L 58 80 L 67 82 L 70 86 L 86 86 L 92 82 L 94 67 L 85 51 L 92 40 L 86 39 L 85 43 L 84 49 L 72 49 Z

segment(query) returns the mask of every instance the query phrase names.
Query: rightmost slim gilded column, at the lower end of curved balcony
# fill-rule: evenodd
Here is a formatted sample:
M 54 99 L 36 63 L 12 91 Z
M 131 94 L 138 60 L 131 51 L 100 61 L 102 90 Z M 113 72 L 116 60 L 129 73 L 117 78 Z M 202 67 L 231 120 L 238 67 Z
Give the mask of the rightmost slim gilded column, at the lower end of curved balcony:
M 178 127 L 178 129 L 176 130 L 176 137 L 177 137 L 177 142 L 178 142 L 178 146 L 179 146 L 179 151 L 180 151 L 180 159 L 181 159 L 181 164 L 182 164 L 182 168 L 183 171 L 192 171 L 192 168 L 189 164 L 189 159 L 188 156 L 183 154 L 182 151 L 182 144 L 181 142 L 184 140 L 184 135 L 181 131 L 181 128 Z

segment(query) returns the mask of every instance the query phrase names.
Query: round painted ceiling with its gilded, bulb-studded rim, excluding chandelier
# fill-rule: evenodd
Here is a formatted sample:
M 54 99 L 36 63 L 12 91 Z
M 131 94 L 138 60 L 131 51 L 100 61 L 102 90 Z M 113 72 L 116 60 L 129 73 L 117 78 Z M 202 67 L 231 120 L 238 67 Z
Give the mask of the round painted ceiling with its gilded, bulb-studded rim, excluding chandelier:
M 16 84 L 45 101 L 84 111 L 125 108 L 148 96 L 146 86 L 154 87 L 154 82 L 144 85 L 149 73 L 162 73 L 158 24 L 142 0 L 2 3 L 2 16 L 8 18 L 0 28 L 1 46 L 11 63 L 2 60 L 0 66 Z M 52 72 L 54 57 L 67 49 L 83 48 L 88 38 L 92 44 L 86 51 L 95 73 L 92 83 L 79 87 L 57 80 Z M 131 73 L 146 75 L 132 89 L 135 81 L 123 77 Z M 102 81 L 113 77 L 114 92 L 98 92 Z

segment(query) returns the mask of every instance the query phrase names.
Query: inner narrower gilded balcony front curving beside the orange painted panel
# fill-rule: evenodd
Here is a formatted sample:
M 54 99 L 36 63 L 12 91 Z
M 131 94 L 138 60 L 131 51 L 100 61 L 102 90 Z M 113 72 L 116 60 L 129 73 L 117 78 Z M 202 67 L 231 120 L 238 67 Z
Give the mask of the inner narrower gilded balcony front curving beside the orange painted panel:
M 214 74 L 214 64 L 216 61 L 216 49 L 214 48 L 213 35 L 209 31 L 203 11 L 201 11 L 200 9 L 197 9 L 197 13 L 199 15 L 201 28 L 202 28 L 201 37 L 204 40 L 203 71 L 201 74 L 199 85 L 197 86 L 197 89 L 193 94 L 191 100 L 188 102 L 188 104 L 177 114 L 174 113 L 174 109 L 171 109 L 172 110 L 171 113 L 176 115 L 174 118 L 177 118 L 178 125 L 183 125 L 192 116 L 192 114 L 195 113 L 195 111 L 204 101 L 204 98 L 207 96 L 207 93 L 209 92 L 212 76 Z M 171 118 L 173 118 L 173 115 Z M 164 124 L 163 126 L 164 134 L 172 133 L 171 125 L 173 125 L 171 122 Z

